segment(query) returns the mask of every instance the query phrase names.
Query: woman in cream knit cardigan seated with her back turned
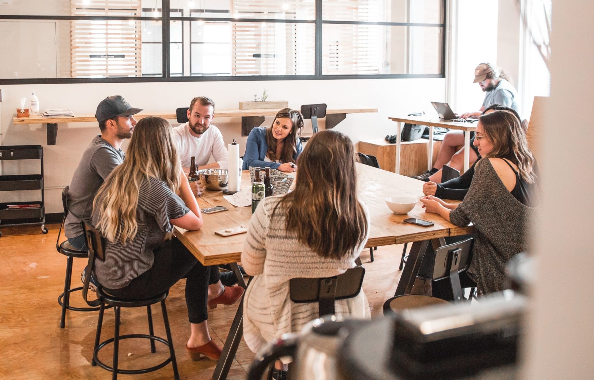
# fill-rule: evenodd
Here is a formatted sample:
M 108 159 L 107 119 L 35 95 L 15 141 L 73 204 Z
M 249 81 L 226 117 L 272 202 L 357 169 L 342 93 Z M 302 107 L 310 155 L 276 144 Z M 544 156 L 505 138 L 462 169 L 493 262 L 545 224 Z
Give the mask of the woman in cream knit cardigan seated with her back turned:
M 330 277 L 355 267 L 369 232 L 369 211 L 356 197 L 350 138 L 328 129 L 309 140 L 295 190 L 265 198 L 252 216 L 241 261 L 254 276 L 244 299 L 244 338 L 256 352 L 318 317 L 317 303 L 293 303 L 289 280 Z M 364 292 L 336 301 L 336 314 L 369 317 Z

